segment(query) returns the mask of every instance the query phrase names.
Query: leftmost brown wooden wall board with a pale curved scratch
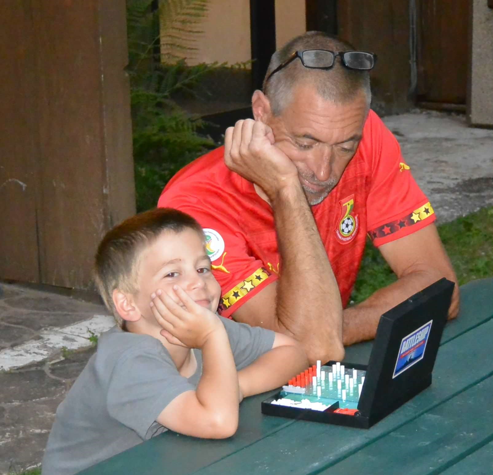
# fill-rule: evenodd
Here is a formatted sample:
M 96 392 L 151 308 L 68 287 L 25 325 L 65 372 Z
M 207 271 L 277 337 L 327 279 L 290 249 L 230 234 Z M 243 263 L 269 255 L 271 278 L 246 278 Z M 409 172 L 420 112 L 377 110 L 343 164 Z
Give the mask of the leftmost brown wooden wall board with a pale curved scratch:
M 31 1 L 0 3 L 0 277 L 39 277 L 39 147 Z

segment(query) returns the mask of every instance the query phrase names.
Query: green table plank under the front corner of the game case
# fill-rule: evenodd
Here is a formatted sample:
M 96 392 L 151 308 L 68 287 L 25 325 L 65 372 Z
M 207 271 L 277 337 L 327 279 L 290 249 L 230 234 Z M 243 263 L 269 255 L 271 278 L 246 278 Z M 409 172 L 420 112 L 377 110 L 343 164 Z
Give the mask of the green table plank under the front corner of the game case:
M 266 469 L 269 475 L 285 475 L 287 469 L 290 474 L 309 474 L 330 467 L 492 376 L 488 364 L 492 337 L 493 321 L 489 321 L 443 345 L 432 385 L 369 430 L 296 421 L 197 474 L 240 475 Z

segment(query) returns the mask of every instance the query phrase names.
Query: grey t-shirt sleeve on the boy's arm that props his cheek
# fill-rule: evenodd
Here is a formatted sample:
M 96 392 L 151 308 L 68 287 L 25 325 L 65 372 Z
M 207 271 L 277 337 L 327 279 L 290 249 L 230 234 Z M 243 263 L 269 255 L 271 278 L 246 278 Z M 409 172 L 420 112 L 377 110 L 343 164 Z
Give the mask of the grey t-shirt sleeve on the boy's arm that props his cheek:
M 157 417 L 177 396 L 192 390 L 195 386 L 178 373 L 163 345 L 147 342 L 119 359 L 108 384 L 107 409 L 145 440 L 166 430 Z

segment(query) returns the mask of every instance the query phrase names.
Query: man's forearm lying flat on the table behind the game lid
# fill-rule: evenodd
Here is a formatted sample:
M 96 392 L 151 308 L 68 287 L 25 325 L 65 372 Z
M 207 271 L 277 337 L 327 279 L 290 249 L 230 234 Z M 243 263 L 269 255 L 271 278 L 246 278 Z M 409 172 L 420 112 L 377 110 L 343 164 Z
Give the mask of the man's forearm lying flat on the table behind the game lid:
M 380 316 L 383 313 L 440 278 L 441 275 L 426 270 L 411 272 L 397 282 L 373 293 L 364 302 L 346 308 L 343 312 L 344 345 L 375 338 Z M 451 317 L 455 317 L 458 310 L 457 285 L 454 289 L 454 300 L 457 303 L 453 303 L 451 307 Z

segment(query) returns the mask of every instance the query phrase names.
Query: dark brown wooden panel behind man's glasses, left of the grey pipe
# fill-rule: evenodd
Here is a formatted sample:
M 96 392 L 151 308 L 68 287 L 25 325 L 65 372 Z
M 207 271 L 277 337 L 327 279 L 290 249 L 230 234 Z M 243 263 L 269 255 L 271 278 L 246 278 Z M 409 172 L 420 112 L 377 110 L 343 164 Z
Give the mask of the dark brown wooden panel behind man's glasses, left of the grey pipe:
M 339 1 L 338 36 L 356 48 L 373 51 L 378 63 L 371 73 L 372 107 L 398 113 L 411 105 L 409 5 L 407 0 Z

